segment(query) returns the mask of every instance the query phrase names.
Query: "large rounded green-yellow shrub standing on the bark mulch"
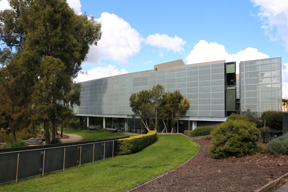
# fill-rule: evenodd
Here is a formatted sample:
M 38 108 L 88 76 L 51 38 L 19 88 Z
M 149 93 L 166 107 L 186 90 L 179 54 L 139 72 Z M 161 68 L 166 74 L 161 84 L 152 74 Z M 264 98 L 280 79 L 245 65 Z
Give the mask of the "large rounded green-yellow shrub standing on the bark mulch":
M 257 142 L 260 130 L 254 123 L 243 120 L 228 120 L 220 124 L 212 133 L 212 146 L 209 148 L 212 158 L 241 157 L 262 152 Z

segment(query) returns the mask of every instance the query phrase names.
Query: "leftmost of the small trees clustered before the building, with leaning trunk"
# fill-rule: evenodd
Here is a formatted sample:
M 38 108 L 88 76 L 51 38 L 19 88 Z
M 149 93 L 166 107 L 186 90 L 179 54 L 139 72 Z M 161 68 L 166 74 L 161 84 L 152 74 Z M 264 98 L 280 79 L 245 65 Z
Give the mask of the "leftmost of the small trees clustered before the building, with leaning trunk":
M 145 128 L 149 131 L 148 119 L 151 117 L 153 105 L 150 99 L 151 92 L 149 90 L 142 90 L 138 93 L 132 93 L 129 101 L 133 112 L 132 117 L 139 117 Z

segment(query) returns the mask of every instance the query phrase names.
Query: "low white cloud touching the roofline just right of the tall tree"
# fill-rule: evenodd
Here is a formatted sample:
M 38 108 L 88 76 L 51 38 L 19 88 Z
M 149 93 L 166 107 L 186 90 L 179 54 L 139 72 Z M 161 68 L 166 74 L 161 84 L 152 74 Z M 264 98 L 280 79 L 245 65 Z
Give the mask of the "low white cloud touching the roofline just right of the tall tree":
M 82 72 L 86 72 L 84 70 L 82 70 Z M 89 80 L 93 80 L 93 79 L 99 79 L 99 78 L 103 78 L 103 77 L 110 77 L 110 76 L 114 76 L 114 75 L 121 75 L 121 74 L 125 74 L 128 73 L 128 71 L 126 71 L 126 69 L 118 69 L 116 68 L 115 65 L 107 65 L 106 67 L 102 67 L 102 66 L 98 66 L 95 67 L 91 70 L 89 70 L 88 72 L 86 72 L 86 74 L 81 74 L 78 73 L 77 78 L 75 79 L 76 82 L 83 82 L 83 81 L 89 81 Z

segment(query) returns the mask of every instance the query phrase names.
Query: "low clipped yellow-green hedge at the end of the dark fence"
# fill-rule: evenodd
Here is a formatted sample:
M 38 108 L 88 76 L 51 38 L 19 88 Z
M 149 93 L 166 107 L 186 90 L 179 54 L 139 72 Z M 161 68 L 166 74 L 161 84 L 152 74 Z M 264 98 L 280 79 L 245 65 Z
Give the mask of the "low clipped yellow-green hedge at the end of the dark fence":
M 137 153 L 145 147 L 154 143 L 157 139 L 157 131 L 149 131 L 145 135 L 119 139 L 116 145 L 117 155 Z

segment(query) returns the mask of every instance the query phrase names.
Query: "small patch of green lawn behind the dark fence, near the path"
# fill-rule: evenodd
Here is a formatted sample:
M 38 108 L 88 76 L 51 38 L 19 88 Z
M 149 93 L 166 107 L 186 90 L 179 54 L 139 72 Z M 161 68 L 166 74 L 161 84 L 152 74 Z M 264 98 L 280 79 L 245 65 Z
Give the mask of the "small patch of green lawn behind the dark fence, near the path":
M 81 141 L 129 136 L 129 135 L 120 134 L 120 133 L 90 131 L 90 130 L 83 130 L 83 129 L 76 129 L 76 130 L 75 129 L 64 129 L 63 132 L 80 135 L 83 137 L 83 139 Z M 60 134 L 60 132 L 59 132 L 59 134 Z

